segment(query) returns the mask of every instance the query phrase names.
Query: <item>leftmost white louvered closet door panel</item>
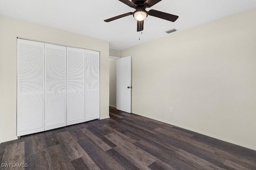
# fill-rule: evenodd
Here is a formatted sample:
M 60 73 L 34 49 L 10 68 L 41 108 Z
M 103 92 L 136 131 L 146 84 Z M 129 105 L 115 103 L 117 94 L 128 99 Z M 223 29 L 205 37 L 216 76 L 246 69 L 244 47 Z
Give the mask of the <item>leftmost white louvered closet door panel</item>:
M 17 136 L 44 131 L 44 43 L 17 39 Z

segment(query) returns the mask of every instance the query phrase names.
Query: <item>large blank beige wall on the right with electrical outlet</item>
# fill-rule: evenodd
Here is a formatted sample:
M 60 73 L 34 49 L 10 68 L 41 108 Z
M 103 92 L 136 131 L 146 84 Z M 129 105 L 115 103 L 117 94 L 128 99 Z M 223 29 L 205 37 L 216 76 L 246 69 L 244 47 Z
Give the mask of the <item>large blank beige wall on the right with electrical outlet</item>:
M 256 9 L 120 54 L 132 56 L 132 113 L 256 150 Z

